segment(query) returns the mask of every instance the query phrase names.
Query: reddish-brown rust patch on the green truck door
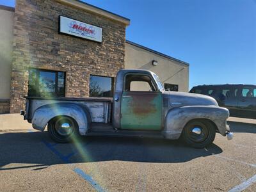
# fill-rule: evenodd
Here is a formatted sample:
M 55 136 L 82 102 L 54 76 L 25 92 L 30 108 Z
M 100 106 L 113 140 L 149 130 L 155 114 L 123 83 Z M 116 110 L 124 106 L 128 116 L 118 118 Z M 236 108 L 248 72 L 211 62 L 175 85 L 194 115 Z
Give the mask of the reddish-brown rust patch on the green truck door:
M 132 113 L 134 115 L 146 116 L 149 113 L 156 113 L 156 104 L 154 104 L 155 94 L 134 95 L 130 102 Z

